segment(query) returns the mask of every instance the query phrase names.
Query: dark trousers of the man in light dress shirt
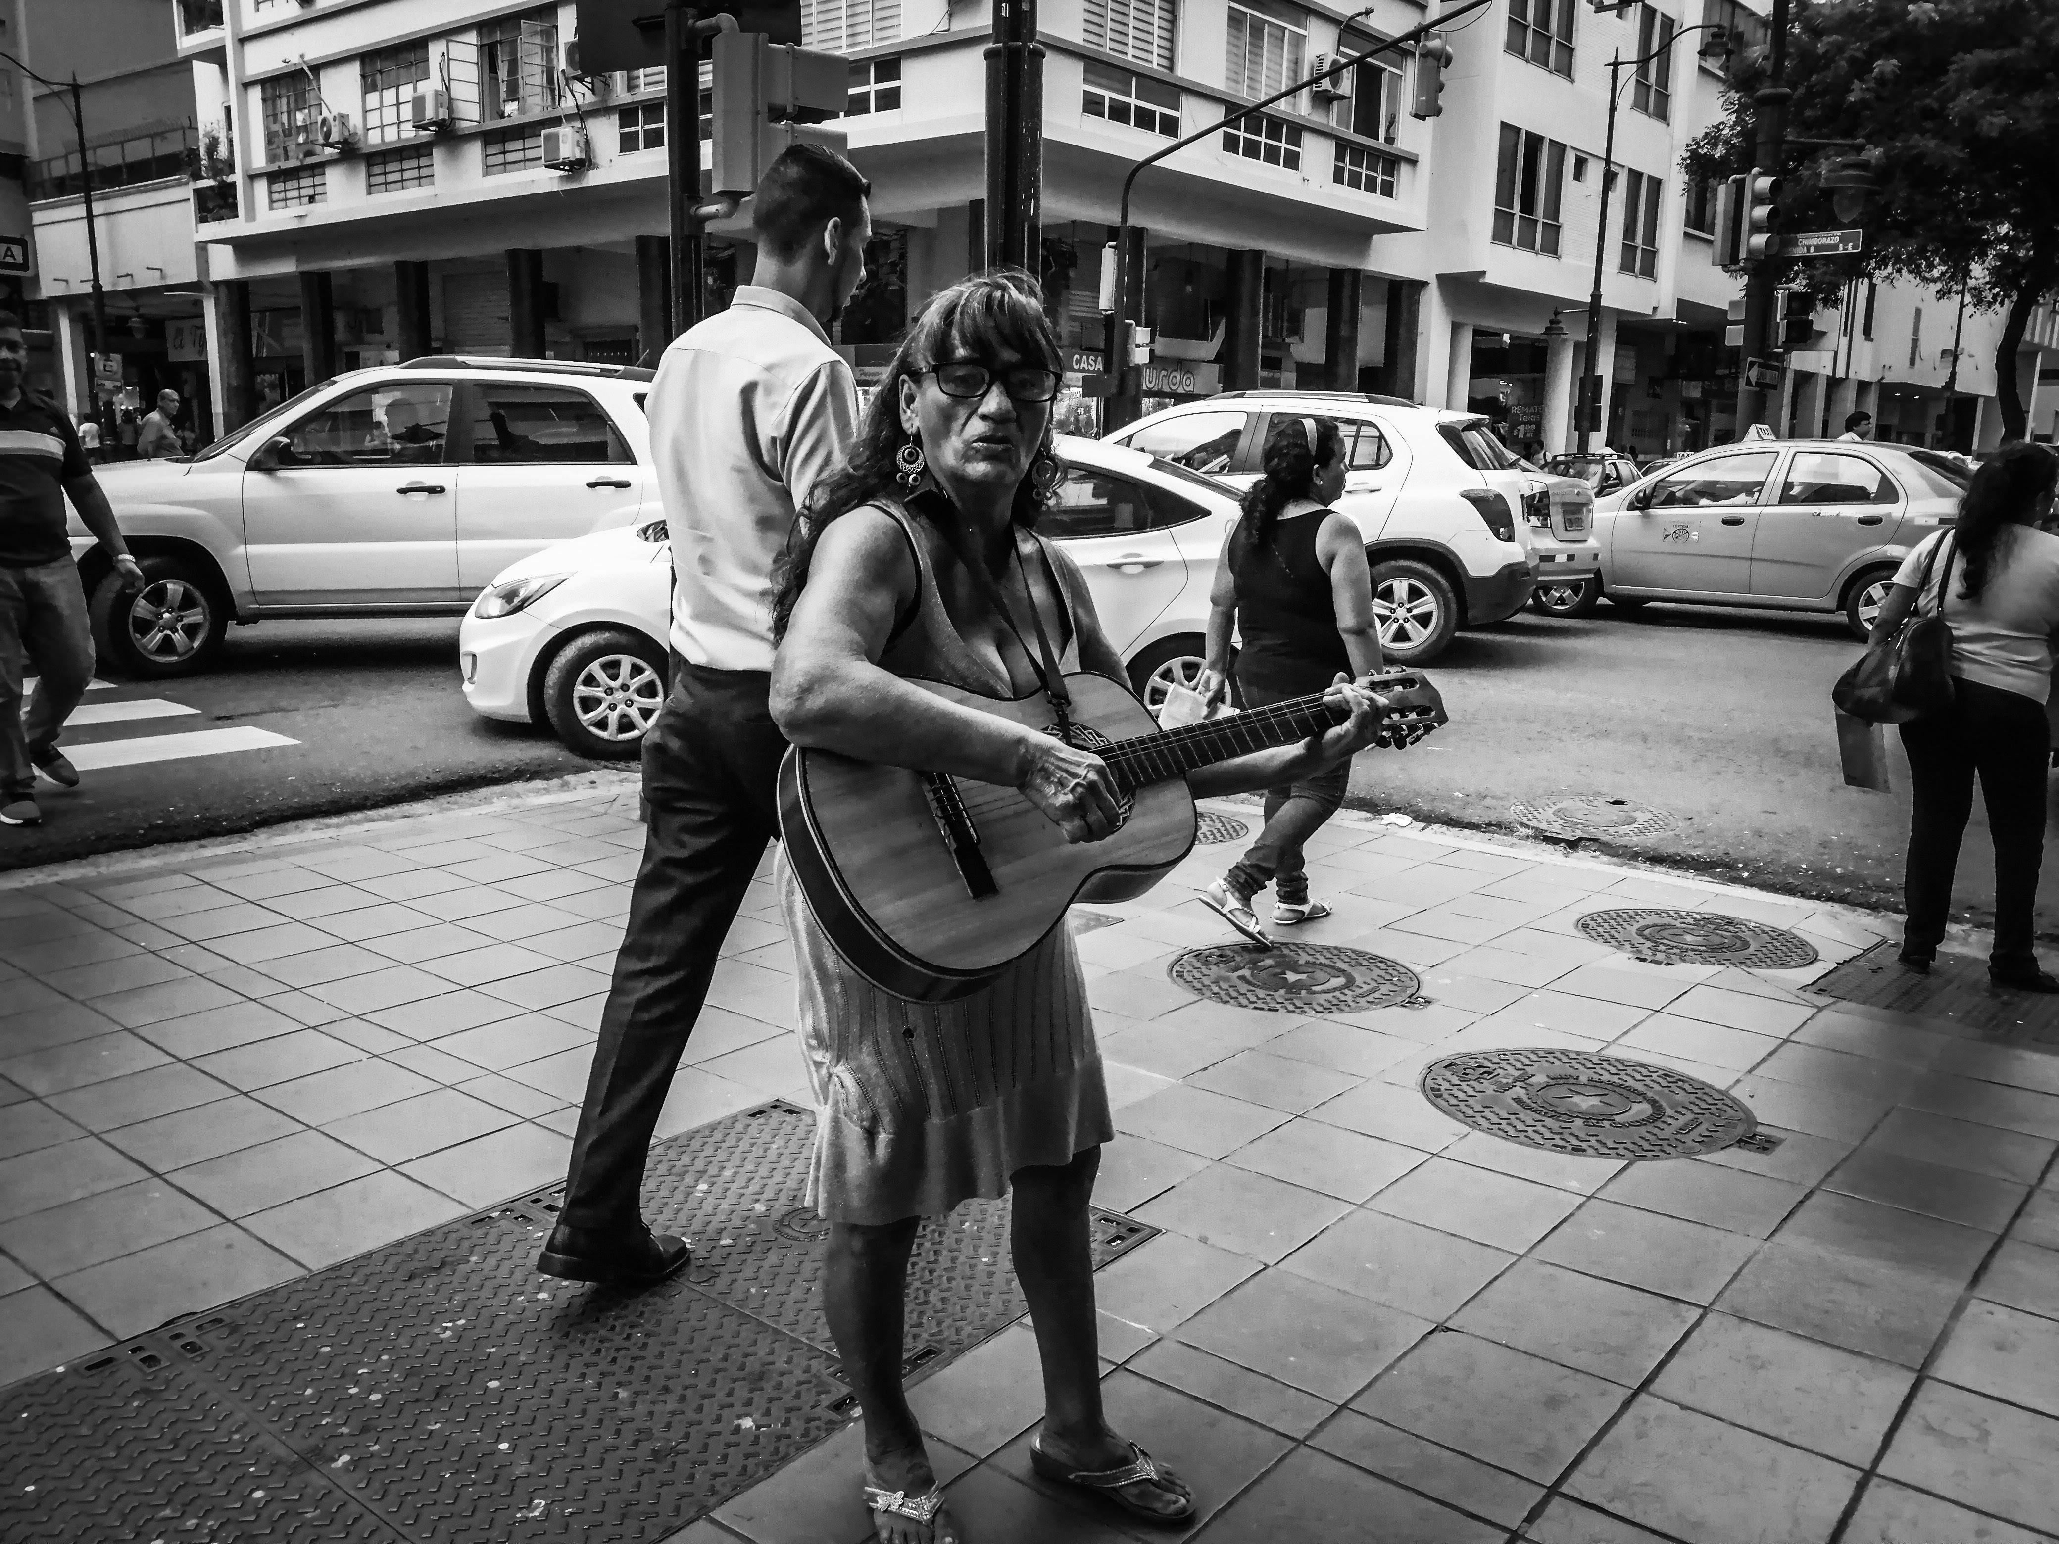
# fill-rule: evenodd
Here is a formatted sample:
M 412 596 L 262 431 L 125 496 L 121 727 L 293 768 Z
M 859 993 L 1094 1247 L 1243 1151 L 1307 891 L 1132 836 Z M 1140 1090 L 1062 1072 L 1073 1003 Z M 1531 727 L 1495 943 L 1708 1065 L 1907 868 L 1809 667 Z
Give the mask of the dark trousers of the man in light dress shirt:
M 671 1075 L 700 1017 L 714 959 L 778 836 L 787 741 L 770 675 L 671 661 L 671 690 L 642 745 L 649 807 L 628 933 L 601 1013 L 560 1221 L 632 1227 Z

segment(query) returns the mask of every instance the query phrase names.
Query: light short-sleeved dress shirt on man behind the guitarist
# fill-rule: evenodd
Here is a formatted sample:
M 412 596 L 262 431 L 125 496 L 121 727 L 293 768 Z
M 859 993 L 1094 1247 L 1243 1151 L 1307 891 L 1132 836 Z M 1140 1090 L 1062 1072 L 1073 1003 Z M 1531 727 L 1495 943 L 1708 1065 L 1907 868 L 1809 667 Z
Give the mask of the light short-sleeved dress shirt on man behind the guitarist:
M 677 572 L 671 646 L 770 671 L 772 564 L 795 508 L 857 441 L 850 366 L 799 301 L 743 284 L 671 342 L 647 410 Z

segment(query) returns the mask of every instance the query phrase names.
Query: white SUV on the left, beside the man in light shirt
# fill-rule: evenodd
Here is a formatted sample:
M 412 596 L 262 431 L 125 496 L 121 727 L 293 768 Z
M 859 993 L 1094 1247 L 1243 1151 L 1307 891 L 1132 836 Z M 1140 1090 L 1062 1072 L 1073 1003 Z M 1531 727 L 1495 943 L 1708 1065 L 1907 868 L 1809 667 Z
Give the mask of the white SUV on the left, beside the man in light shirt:
M 231 622 L 459 616 L 539 548 L 659 513 L 651 371 L 418 358 L 309 387 L 191 461 L 97 467 L 142 589 L 72 517 L 109 669 L 202 669 Z

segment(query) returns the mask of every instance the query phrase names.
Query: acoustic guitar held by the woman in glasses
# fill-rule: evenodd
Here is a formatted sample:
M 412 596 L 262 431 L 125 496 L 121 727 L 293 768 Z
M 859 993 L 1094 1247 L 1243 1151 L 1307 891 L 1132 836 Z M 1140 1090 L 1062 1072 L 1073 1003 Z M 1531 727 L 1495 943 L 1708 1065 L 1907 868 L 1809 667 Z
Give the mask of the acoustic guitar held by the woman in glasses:
M 970 996 L 1065 920 L 1073 902 L 1143 896 L 1194 846 L 1186 774 L 1291 745 L 1349 718 L 1322 694 L 1159 729 L 1128 686 L 1067 675 L 1073 735 L 1122 795 L 1100 842 L 1065 834 L 1015 788 L 793 747 L 780 762 L 787 863 L 838 953 L 885 992 L 918 1003 Z M 1042 692 L 1013 702 L 912 679 L 947 702 L 1056 733 Z M 1363 679 L 1388 702 L 1380 745 L 1406 747 L 1447 723 L 1419 671 Z

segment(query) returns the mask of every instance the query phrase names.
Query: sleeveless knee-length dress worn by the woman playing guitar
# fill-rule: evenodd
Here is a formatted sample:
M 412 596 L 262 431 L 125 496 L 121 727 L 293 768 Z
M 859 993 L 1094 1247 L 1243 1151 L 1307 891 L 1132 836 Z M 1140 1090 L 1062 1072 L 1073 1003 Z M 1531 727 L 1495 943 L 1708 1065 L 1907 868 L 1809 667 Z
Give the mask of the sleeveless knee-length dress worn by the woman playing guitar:
M 1013 696 L 1005 671 L 959 636 L 943 607 L 935 568 L 955 558 L 941 537 L 898 504 L 877 508 L 908 535 L 918 572 L 916 607 L 881 669 Z M 1071 626 L 1067 634 L 1060 667 L 1077 669 L 1077 634 Z M 1015 1169 L 1071 1163 L 1114 1136 L 1087 988 L 1062 922 L 984 990 L 910 1003 L 844 963 L 784 850 L 776 885 L 795 947 L 795 1029 L 815 1093 L 807 1200 L 824 1219 L 939 1217 L 962 1200 L 1007 1194 Z

